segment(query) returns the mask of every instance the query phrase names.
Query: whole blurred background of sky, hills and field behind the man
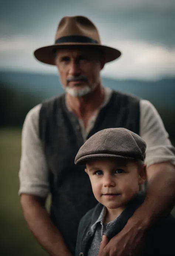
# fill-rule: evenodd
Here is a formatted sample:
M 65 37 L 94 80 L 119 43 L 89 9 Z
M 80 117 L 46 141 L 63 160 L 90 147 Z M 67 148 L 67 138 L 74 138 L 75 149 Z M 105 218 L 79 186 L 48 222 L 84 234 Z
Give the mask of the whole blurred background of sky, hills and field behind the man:
M 73 15 L 88 16 L 102 43 L 123 52 L 105 66 L 103 85 L 150 100 L 175 145 L 174 0 L 1 0 L 2 256 L 47 255 L 28 230 L 19 203 L 21 128 L 33 106 L 63 92 L 56 68 L 35 60 L 33 51 L 53 44 L 59 20 Z

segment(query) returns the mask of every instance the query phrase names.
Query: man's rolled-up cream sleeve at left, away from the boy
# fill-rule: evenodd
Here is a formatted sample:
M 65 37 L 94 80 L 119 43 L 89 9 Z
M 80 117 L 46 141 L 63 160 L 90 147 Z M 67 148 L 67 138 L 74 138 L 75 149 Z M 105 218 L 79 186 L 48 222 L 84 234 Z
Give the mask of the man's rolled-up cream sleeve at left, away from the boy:
M 41 104 L 32 108 L 24 121 L 20 161 L 20 189 L 22 193 L 47 197 L 49 194 L 48 168 L 38 136 Z

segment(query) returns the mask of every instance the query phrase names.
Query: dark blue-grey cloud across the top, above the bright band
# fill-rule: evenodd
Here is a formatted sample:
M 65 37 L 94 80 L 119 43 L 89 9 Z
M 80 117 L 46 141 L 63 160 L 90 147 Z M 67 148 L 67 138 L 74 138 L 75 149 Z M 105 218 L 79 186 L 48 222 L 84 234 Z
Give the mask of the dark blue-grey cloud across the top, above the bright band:
M 3 1 L 0 34 L 33 36 L 53 42 L 59 20 L 66 15 L 88 16 L 102 40 L 146 41 L 174 47 L 174 0 L 18 0 Z M 45 41 L 47 44 L 47 41 Z M 41 42 L 42 44 L 44 43 Z M 41 44 L 41 45 L 42 45 Z

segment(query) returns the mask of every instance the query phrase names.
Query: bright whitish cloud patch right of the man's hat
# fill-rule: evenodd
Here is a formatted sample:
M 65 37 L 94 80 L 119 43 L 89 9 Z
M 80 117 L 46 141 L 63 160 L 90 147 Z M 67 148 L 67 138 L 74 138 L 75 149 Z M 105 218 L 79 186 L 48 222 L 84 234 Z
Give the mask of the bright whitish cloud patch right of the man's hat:
M 108 45 L 118 48 L 123 55 L 106 65 L 103 75 L 119 79 L 157 80 L 175 74 L 175 48 L 138 41 L 110 41 Z

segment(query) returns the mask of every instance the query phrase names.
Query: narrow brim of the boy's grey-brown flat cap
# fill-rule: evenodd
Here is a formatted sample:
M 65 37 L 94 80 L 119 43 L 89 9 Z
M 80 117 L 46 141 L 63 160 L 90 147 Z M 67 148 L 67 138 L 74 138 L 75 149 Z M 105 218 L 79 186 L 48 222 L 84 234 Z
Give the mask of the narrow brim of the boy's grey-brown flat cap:
M 122 159 L 128 159 L 128 160 L 135 159 L 134 157 L 121 156 L 121 155 L 115 155 L 115 154 L 90 154 L 75 160 L 75 164 L 86 164 L 88 160 L 97 159 L 97 158 L 98 159 L 99 158 L 122 158 Z

